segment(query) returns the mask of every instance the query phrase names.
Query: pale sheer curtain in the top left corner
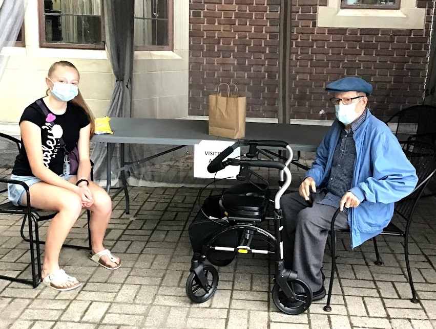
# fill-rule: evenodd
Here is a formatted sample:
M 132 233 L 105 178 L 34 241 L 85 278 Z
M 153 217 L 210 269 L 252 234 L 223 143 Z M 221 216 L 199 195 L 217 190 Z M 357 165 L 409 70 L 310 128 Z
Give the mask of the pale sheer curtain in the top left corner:
M 0 0 L 0 52 L 15 44 L 23 25 L 27 0 Z M 0 55 L 0 79 L 8 62 L 8 56 Z

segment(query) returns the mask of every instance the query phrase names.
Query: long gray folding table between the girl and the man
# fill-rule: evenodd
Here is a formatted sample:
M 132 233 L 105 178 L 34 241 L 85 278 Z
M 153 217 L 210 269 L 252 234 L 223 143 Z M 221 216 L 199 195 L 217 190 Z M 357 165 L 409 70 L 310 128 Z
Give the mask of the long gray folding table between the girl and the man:
M 122 190 L 126 197 L 126 213 L 129 213 L 129 193 L 125 171 L 155 157 L 180 149 L 186 145 L 195 145 L 201 140 L 232 140 L 207 133 L 205 120 L 179 119 L 134 119 L 127 117 L 113 117 L 110 121 L 113 134 L 94 135 L 92 142 L 107 144 L 107 185 L 106 191 L 111 189 L 111 159 L 116 143 L 120 144 Z M 328 126 L 287 125 L 274 123 L 247 122 L 244 139 L 273 139 L 287 142 L 293 150 L 316 151 Z M 177 145 L 168 151 L 161 152 L 147 158 L 126 162 L 124 159 L 125 144 L 164 144 Z M 119 190 L 116 194 L 118 194 Z

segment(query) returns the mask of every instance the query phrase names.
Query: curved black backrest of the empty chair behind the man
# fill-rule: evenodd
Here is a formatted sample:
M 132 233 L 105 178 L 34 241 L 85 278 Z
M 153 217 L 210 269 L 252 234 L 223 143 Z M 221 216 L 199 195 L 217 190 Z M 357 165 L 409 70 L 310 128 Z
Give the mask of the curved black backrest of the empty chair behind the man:
M 397 123 L 394 132 L 396 136 L 402 133 L 405 124 L 415 123 L 417 124 L 417 131 L 414 134 L 422 137 L 418 139 L 434 143 L 436 136 L 436 106 L 421 104 L 407 107 L 393 114 L 386 121 L 386 124 L 388 123 Z

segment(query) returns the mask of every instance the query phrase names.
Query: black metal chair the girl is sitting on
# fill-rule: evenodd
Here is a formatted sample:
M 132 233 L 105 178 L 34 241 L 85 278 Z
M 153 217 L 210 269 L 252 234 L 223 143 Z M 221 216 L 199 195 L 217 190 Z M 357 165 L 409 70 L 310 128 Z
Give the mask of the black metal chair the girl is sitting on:
M 18 149 L 18 152 L 21 148 L 21 141 L 15 137 L 9 136 L 4 133 L 0 133 L 0 138 L 3 138 L 4 140 L 7 140 L 11 143 L 15 143 Z M 92 163 L 91 163 L 92 165 Z M 92 166 L 91 166 L 92 168 Z M 91 180 L 93 179 L 93 173 L 91 170 Z M 45 244 L 45 241 L 39 241 L 39 230 L 38 230 L 38 223 L 43 222 L 46 220 L 52 219 L 54 216 L 56 216 L 57 213 L 50 212 L 47 210 L 41 210 L 33 208 L 30 204 L 30 194 L 29 194 L 29 187 L 26 183 L 18 180 L 12 180 L 8 178 L 0 178 L 0 195 L 3 195 L 4 193 L 7 193 L 8 188 L 7 184 L 20 184 L 24 187 L 26 190 L 26 197 L 27 197 L 27 206 L 15 206 L 12 204 L 12 202 L 5 202 L 0 204 L 0 214 L 9 214 L 9 215 L 20 215 L 23 217 L 23 223 L 21 225 L 20 229 L 20 235 L 21 237 L 29 242 L 30 245 L 30 260 L 31 260 L 31 270 L 32 270 L 32 279 L 27 278 L 20 278 L 20 277 L 14 277 L 14 276 L 6 276 L 6 275 L 0 275 L 0 279 L 6 279 L 10 281 L 15 281 L 19 283 L 24 283 L 28 285 L 32 285 L 33 288 L 36 288 L 40 282 L 41 282 L 41 254 L 39 245 Z M 71 247 L 76 249 L 91 249 L 91 240 L 90 240 L 90 230 L 89 230 L 89 219 L 90 219 L 90 212 L 87 210 L 87 220 L 88 220 L 88 246 L 77 246 L 72 244 L 64 244 L 64 247 Z M 26 223 L 28 225 L 28 237 L 25 236 L 24 229 L 26 226 Z M 35 264 L 36 263 L 36 264 Z

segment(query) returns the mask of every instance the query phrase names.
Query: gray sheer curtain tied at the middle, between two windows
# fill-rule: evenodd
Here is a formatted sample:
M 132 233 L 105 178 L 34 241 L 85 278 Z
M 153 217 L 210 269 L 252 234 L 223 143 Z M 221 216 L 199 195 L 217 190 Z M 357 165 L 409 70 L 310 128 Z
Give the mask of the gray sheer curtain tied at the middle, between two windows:
M 132 102 L 134 0 L 105 0 L 106 44 L 116 78 L 107 115 L 130 117 Z M 106 144 L 97 143 L 92 151 L 94 180 L 106 181 Z M 120 153 L 115 149 L 112 168 L 120 167 Z M 119 174 L 112 176 L 117 180 Z M 115 182 L 114 182 L 115 183 Z

